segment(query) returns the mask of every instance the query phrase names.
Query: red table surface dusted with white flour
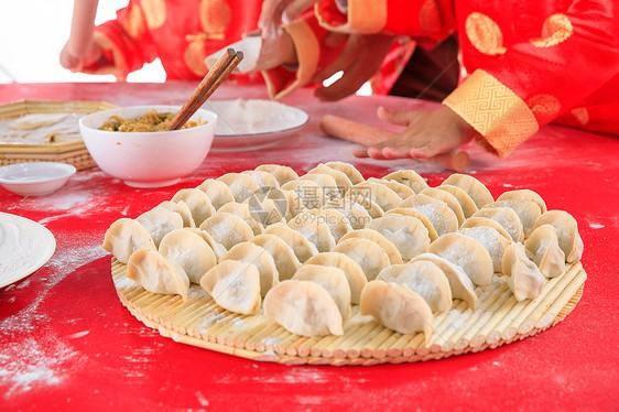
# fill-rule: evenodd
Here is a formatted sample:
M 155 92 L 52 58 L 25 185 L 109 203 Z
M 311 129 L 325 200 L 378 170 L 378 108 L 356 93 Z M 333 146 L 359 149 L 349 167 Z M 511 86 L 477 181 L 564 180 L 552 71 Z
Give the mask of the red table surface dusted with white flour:
M 119 105 L 181 102 L 193 85 L 58 84 L 0 86 L 0 101 L 102 99 Z M 260 97 L 260 88 L 229 87 L 216 97 Z M 619 390 L 619 139 L 546 127 L 510 159 L 471 148 L 470 173 L 497 196 L 539 192 L 551 208 L 572 213 L 585 242 L 589 275 L 567 319 L 495 350 L 424 364 L 374 367 L 286 367 L 249 361 L 159 336 L 121 306 L 110 258 L 99 248 L 106 228 L 135 217 L 177 189 L 206 177 L 284 163 L 298 172 L 318 162 L 352 162 L 369 176 L 415 169 L 439 183 L 448 173 L 413 161 L 356 160 L 354 145 L 321 135 L 324 113 L 374 121 L 379 105 L 415 100 L 352 97 L 319 104 L 301 91 L 287 102 L 311 124 L 278 147 L 210 153 L 172 187 L 135 189 L 98 169 L 79 172 L 52 196 L 22 198 L 0 189 L 0 210 L 39 220 L 57 239 L 47 265 L 0 292 L 0 408 L 11 409 L 605 409 Z

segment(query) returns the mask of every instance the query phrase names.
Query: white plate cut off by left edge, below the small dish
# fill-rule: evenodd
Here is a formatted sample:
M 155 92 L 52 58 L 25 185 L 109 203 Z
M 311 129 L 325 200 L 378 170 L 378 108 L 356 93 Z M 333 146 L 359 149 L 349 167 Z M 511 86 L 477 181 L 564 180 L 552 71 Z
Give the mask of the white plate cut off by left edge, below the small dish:
M 0 288 L 34 273 L 55 250 L 56 239 L 47 228 L 0 212 Z

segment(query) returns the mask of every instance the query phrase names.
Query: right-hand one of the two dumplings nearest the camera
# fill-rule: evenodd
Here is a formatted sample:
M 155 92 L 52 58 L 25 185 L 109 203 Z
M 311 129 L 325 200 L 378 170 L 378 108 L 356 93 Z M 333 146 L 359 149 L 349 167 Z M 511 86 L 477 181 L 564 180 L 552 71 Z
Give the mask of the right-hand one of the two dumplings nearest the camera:
M 371 315 L 400 334 L 423 332 L 426 340 L 432 335 L 434 317 L 430 306 L 419 293 L 398 283 L 368 282 L 361 292 L 359 308 L 362 315 Z

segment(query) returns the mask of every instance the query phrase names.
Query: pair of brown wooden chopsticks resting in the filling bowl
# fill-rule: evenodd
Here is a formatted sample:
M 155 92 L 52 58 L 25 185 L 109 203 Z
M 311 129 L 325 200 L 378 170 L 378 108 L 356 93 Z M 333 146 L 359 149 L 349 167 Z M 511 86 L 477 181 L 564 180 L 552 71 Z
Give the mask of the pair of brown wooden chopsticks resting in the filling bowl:
M 181 110 L 172 119 L 170 130 L 178 130 L 189 120 L 192 116 L 204 105 L 204 102 L 217 90 L 224 80 L 232 73 L 232 71 L 243 59 L 242 52 L 237 52 L 234 48 L 228 48 L 226 53 L 213 67 L 208 71 L 206 76 L 202 79 L 198 87 L 194 90 L 192 96 Z

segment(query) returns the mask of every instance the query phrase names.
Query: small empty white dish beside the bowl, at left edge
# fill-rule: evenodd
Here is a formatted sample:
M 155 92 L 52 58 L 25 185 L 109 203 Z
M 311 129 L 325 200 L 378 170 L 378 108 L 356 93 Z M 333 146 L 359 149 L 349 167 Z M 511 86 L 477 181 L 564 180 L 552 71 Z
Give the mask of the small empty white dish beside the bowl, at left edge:
M 0 186 L 22 196 L 44 196 L 63 187 L 75 167 L 58 162 L 15 163 L 0 167 Z

